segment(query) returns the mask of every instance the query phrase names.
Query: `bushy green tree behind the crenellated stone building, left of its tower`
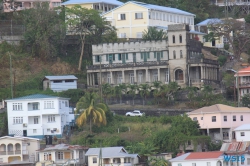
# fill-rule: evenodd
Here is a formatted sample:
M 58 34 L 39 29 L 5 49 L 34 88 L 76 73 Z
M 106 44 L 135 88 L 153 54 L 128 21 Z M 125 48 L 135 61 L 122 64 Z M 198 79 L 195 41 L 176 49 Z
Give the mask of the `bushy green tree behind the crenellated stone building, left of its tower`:
M 157 27 L 148 27 L 148 30 L 144 30 L 142 39 L 144 40 L 164 40 L 167 39 L 167 33 Z

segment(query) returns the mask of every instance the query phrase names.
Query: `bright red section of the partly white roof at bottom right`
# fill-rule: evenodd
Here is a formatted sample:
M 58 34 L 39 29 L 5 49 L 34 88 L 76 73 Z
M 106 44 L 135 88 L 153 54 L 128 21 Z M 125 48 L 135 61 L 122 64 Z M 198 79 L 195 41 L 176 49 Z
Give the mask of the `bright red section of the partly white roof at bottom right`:
M 210 159 L 210 158 L 218 158 L 224 152 L 221 151 L 212 151 L 212 152 L 192 152 L 190 155 L 186 157 L 185 160 L 189 159 Z

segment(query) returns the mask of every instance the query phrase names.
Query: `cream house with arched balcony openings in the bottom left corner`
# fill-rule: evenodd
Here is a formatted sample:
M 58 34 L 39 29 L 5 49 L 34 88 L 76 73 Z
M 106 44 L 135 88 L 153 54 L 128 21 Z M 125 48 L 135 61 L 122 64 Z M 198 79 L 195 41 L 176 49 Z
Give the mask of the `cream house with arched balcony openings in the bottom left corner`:
M 0 165 L 31 166 L 37 161 L 39 139 L 4 136 L 0 137 Z

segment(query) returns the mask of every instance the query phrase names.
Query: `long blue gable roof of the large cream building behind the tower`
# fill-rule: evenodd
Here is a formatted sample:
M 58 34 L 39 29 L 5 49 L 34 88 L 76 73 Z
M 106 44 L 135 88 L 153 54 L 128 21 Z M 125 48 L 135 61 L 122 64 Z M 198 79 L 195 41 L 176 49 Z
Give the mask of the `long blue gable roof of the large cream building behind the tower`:
M 112 9 L 112 10 L 104 13 L 103 15 L 105 15 L 107 13 L 110 13 L 110 12 L 112 12 L 112 11 L 114 11 L 114 10 L 122 7 L 122 6 L 125 6 L 128 3 L 133 3 L 135 5 L 138 5 L 138 6 L 146 8 L 146 9 L 150 9 L 150 10 L 164 11 L 164 12 L 168 12 L 168 13 L 175 13 L 175 14 L 181 14 L 181 15 L 189 15 L 189 16 L 193 16 L 193 17 L 196 16 L 195 14 L 192 14 L 192 13 L 189 13 L 189 12 L 186 12 L 184 10 L 177 9 L 177 8 L 171 8 L 171 7 L 165 7 L 165 6 L 158 6 L 158 5 L 147 4 L 147 3 L 138 2 L 138 1 L 128 1 L 127 3 L 114 8 L 114 9 Z

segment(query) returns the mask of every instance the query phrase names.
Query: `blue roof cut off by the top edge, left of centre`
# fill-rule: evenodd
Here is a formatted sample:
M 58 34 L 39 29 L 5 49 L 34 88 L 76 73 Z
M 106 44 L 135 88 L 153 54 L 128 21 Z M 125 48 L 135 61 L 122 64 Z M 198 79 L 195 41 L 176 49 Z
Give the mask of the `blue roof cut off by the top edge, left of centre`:
M 117 0 L 69 0 L 66 1 L 64 3 L 62 3 L 62 5 L 76 5 L 76 4 L 88 4 L 88 3 L 107 3 L 107 4 L 111 4 L 111 5 L 117 5 L 120 6 L 123 3 Z

